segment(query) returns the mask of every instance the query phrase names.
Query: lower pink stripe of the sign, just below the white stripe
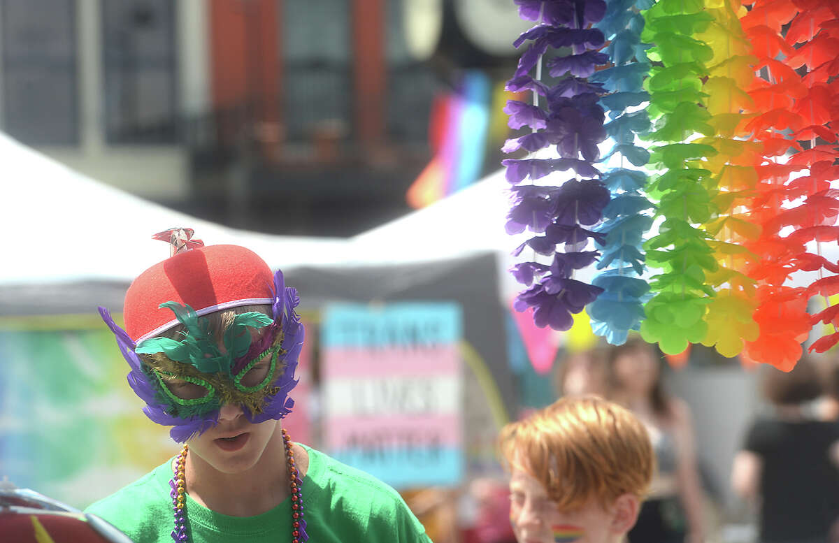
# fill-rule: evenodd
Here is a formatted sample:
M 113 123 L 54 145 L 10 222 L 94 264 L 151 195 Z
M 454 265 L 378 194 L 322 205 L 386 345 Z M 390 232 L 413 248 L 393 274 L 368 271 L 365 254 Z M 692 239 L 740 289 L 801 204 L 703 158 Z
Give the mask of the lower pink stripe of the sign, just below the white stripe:
M 339 416 L 326 421 L 326 446 L 341 448 L 460 447 L 461 419 L 449 415 Z

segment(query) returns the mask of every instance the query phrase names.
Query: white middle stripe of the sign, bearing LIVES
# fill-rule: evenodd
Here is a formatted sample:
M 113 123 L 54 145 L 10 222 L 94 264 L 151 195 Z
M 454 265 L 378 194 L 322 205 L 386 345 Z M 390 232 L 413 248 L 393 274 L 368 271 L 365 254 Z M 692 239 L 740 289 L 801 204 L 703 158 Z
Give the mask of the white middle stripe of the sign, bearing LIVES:
M 328 380 L 323 389 L 325 415 L 395 416 L 459 413 L 459 375 L 370 377 Z

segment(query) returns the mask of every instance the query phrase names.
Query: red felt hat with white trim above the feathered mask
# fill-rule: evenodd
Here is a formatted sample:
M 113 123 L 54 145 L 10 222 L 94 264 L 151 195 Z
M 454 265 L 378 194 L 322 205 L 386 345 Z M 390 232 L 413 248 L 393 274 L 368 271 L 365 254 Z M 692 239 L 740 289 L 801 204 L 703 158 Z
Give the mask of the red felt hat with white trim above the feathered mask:
M 253 251 L 206 246 L 184 251 L 143 271 L 128 287 L 123 317 L 135 342 L 179 324 L 161 303 L 189 305 L 199 315 L 242 305 L 274 303 L 274 274 Z

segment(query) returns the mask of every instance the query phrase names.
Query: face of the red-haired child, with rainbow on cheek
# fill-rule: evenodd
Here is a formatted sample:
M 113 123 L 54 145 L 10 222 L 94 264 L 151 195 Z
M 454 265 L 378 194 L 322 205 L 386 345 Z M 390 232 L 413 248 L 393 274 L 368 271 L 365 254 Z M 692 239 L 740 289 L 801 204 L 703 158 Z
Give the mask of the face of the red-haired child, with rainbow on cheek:
M 611 515 L 597 504 L 561 511 L 529 473 L 513 470 L 510 522 L 519 543 L 607 543 Z

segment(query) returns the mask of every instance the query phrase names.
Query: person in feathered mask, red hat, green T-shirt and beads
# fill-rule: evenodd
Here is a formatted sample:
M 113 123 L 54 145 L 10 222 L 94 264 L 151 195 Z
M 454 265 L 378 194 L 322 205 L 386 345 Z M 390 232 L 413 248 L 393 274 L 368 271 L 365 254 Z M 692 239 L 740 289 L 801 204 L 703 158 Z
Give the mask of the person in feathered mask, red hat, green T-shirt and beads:
M 100 313 L 143 411 L 185 444 L 87 511 L 136 543 L 430 543 L 395 490 L 292 442 L 279 423 L 305 335 L 282 272 L 189 229 L 154 237 L 172 256 L 128 287 L 125 330 Z

